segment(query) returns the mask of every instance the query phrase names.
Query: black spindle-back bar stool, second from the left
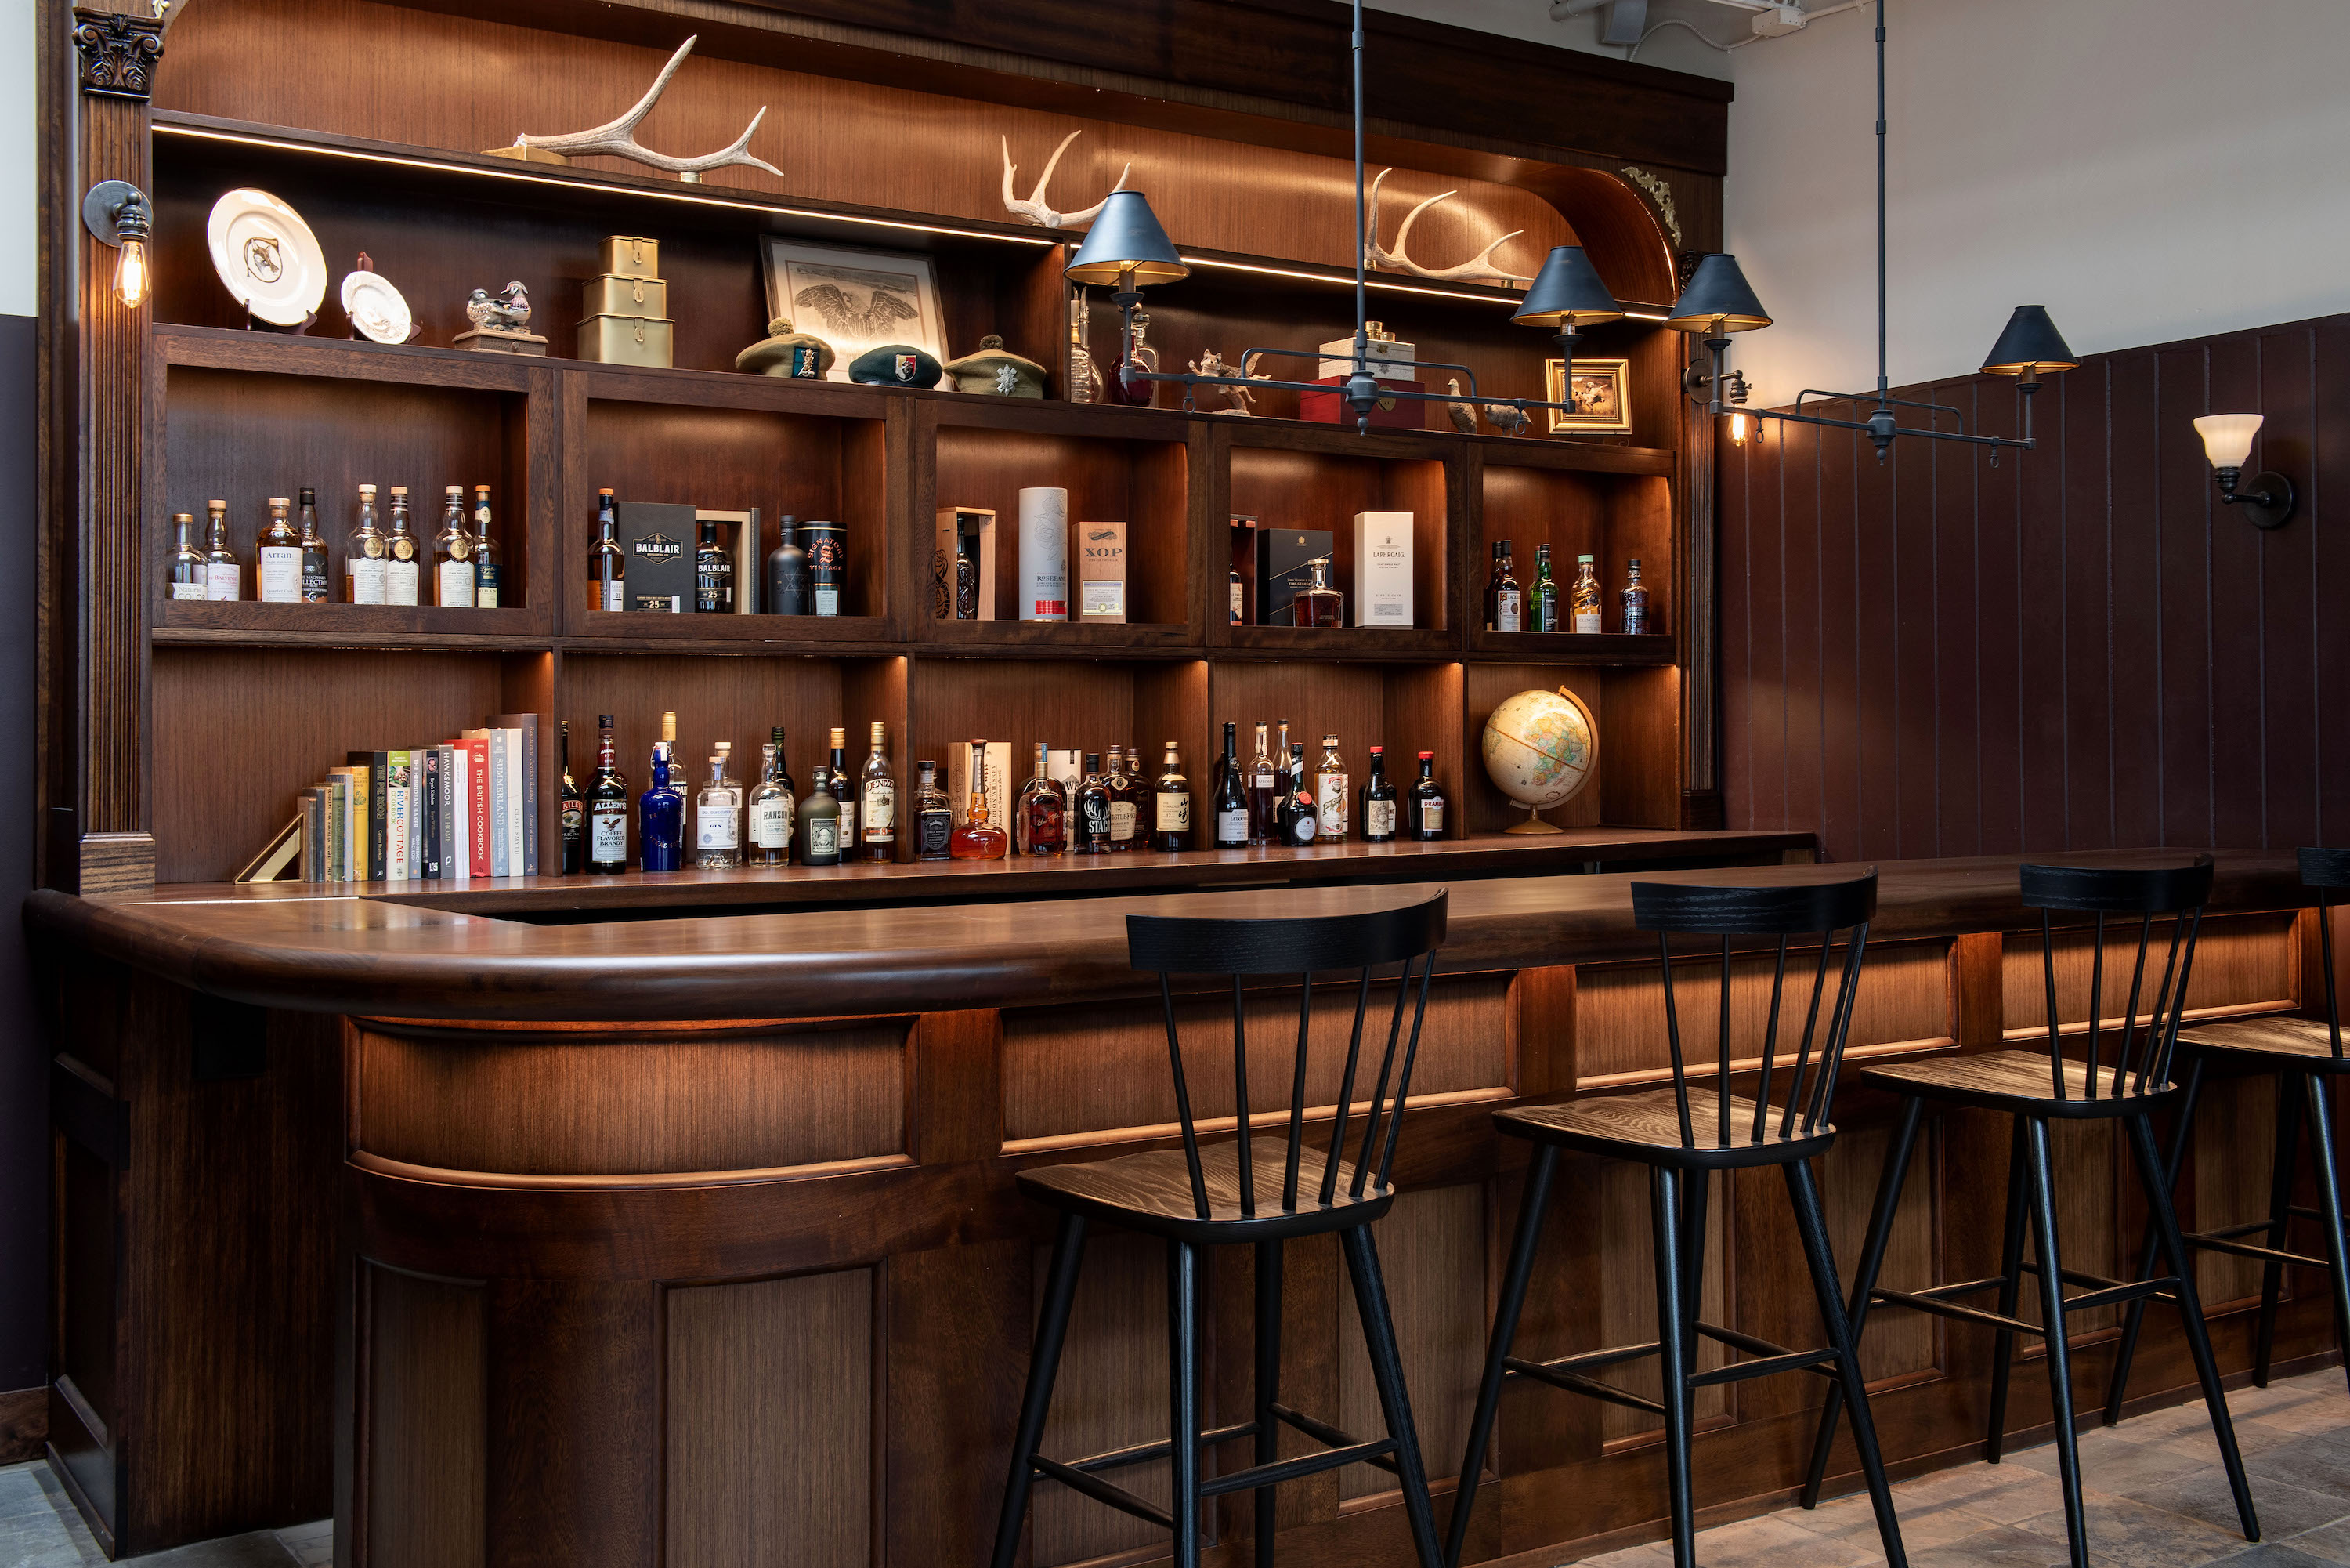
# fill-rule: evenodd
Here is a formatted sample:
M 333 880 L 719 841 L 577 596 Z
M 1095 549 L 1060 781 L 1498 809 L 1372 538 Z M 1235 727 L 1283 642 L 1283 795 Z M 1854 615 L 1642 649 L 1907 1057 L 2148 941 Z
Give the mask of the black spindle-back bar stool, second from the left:
M 1478 1385 L 1476 1418 L 1469 1422 L 1469 1453 L 1462 1458 L 1459 1497 L 1452 1505 L 1452 1528 L 1445 1540 L 1445 1563 L 1459 1563 L 1469 1537 L 1469 1509 L 1476 1505 L 1485 1467 L 1485 1443 L 1492 1436 L 1495 1410 L 1506 1378 L 1546 1382 L 1570 1394 L 1650 1410 L 1664 1418 L 1664 1460 L 1673 1495 L 1673 1561 L 1690 1568 L 1697 1556 L 1697 1507 L 1690 1490 L 1690 1432 L 1697 1389 L 1716 1382 L 1767 1378 L 1772 1373 L 1810 1371 L 1842 1387 L 1852 1399 L 1852 1427 L 1868 1469 L 1868 1490 L 1878 1507 L 1878 1535 L 1885 1561 L 1901 1568 L 1901 1526 L 1894 1519 L 1892 1490 L 1878 1462 L 1875 1429 L 1868 1425 L 1868 1394 L 1852 1356 L 1852 1331 L 1845 1321 L 1842 1281 L 1828 1253 L 1828 1225 L 1819 1208 L 1819 1187 L 1810 1161 L 1835 1143 L 1828 1110 L 1835 1098 L 1838 1067 L 1845 1060 L 1845 1037 L 1852 1030 L 1852 997 L 1868 950 L 1868 922 L 1878 910 L 1878 872 L 1826 884 L 1711 886 L 1697 882 L 1633 882 L 1633 922 L 1657 933 L 1664 964 L 1664 1025 L 1673 1053 L 1673 1086 L 1631 1095 L 1593 1095 L 1565 1105 L 1539 1105 L 1495 1112 L 1495 1126 L 1513 1138 L 1530 1138 L 1535 1157 L 1525 1173 L 1525 1201 L 1518 1208 L 1518 1239 L 1511 1244 L 1502 1300 L 1492 1319 L 1492 1342 L 1485 1352 L 1485 1380 Z M 1828 992 L 1828 959 L 1835 933 L 1845 931 L 1845 957 L 1835 994 L 1828 1001 L 1828 1027 L 1819 1037 L 1821 1001 Z M 1680 1051 L 1680 1009 L 1673 999 L 1673 936 L 1720 936 L 1723 997 L 1720 1048 L 1713 1086 L 1692 1086 Z M 1762 1067 L 1755 1098 L 1730 1093 L 1730 980 L 1732 938 L 1777 938 L 1779 961 L 1772 971 L 1770 1020 L 1762 1027 Z M 1819 943 L 1812 969 L 1812 1001 L 1802 1018 L 1802 1044 L 1795 1048 L 1786 1098 L 1772 1105 L 1772 1070 L 1779 1053 L 1779 1004 L 1786 990 L 1788 945 Z M 1800 961 L 1800 957 L 1798 957 Z M 1795 985 L 1802 985 L 1798 971 Z M 1814 1072 L 1812 1041 L 1821 1039 Z M 1657 1227 L 1657 1342 L 1593 1349 L 1556 1361 L 1523 1361 L 1509 1354 L 1525 1307 L 1525 1286 L 1535 1267 L 1542 1215 L 1551 1201 L 1551 1175 L 1560 1150 L 1584 1150 L 1612 1159 L 1636 1159 L 1650 1171 L 1650 1211 Z M 1734 1328 L 1697 1319 L 1706 1241 L 1706 1185 L 1716 1171 L 1744 1166 L 1779 1166 L 1802 1234 L 1805 1262 L 1819 1295 L 1819 1316 L 1828 1328 L 1826 1349 L 1786 1349 Z M 1699 1373 L 1694 1340 L 1704 1335 L 1748 1361 Z M 1640 1399 L 1600 1382 L 1591 1373 L 1645 1356 L 1659 1356 L 1664 1399 Z

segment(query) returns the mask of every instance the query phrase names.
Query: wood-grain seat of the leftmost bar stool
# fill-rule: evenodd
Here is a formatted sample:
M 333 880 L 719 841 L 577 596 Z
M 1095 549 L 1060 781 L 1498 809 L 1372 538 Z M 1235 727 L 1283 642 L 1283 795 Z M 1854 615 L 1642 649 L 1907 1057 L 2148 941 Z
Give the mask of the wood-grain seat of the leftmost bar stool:
M 1318 1237 L 1347 1225 L 1368 1225 L 1396 1201 L 1394 1187 L 1377 1182 L 1363 1182 L 1361 1194 L 1351 1192 L 1351 1159 L 1340 1161 L 1337 1192 L 1330 1194 L 1330 1201 L 1318 1201 L 1328 1157 L 1321 1150 L 1302 1147 L 1297 1150 L 1297 1206 L 1283 1208 L 1288 1147 L 1269 1138 L 1255 1145 L 1250 1164 L 1257 1171 L 1255 1190 L 1260 1194 L 1255 1213 L 1248 1213 L 1243 1204 L 1241 1145 L 1236 1143 L 1213 1143 L 1198 1152 L 1198 1175 L 1208 1190 L 1206 1218 L 1191 1197 L 1191 1171 L 1182 1150 L 1149 1150 L 1083 1166 L 1036 1166 L 1020 1173 L 1020 1190 L 1039 1204 L 1152 1237 L 1180 1237 L 1196 1244 Z

